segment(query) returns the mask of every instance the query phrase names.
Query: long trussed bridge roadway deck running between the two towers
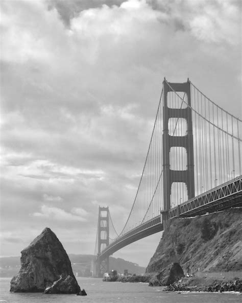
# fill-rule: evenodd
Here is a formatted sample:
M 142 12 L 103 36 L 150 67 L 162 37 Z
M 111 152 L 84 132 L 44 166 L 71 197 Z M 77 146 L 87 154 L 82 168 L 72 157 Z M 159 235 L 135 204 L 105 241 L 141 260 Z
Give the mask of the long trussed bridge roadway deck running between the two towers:
M 168 212 L 168 218 L 195 217 L 206 213 L 242 206 L 242 176 L 238 176 L 195 198 L 175 206 Z M 140 224 L 126 234 L 116 238 L 98 255 L 102 261 L 115 251 L 147 236 L 163 230 L 161 215 Z

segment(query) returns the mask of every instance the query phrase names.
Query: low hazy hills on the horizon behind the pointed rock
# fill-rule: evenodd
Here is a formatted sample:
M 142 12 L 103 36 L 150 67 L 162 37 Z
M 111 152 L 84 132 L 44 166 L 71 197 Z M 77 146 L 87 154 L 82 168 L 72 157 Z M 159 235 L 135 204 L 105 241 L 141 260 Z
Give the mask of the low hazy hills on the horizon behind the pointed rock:
M 91 276 L 91 254 L 69 254 L 72 270 L 78 276 Z M 120 258 L 109 257 L 110 270 L 124 272 L 128 269 L 130 273 L 143 274 L 145 267 L 126 261 Z M 20 257 L 3 257 L 0 258 L 0 277 L 13 277 L 20 269 Z

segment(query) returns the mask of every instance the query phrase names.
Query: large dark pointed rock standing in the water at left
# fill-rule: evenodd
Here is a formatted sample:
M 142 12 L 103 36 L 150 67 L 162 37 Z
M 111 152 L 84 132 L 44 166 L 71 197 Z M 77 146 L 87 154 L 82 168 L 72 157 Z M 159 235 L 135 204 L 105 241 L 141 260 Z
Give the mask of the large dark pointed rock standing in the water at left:
M 55 288 L 56 293 L 79 293 L 81 290 L 65 249 L 48 227 L 21 251 L 20 261 L 21 268 L 11 280 L 12 292 L 42 292 L 54 282 L 60 285 Z

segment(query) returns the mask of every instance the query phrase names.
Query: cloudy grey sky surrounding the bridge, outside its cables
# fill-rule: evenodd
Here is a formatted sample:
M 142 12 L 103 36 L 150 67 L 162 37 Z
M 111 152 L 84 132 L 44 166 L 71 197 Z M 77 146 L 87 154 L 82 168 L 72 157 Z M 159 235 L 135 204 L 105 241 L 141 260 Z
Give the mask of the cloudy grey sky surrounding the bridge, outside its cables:
M 239 0 L 0 5 L 2 257 L 46 226 L 67 253 L 93 254 L 99 205 L 122 230 L 164 77 L 241 119 Z M 147 266 L 160 236 L 113 257 Z

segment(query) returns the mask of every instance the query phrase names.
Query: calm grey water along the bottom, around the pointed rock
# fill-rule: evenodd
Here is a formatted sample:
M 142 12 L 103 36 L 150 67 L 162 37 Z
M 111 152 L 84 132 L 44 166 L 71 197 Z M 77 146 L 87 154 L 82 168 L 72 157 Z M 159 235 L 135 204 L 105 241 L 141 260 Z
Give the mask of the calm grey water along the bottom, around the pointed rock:
M 232 303 L 241 302 L 242 293 L 163 292 L 162 287 L 144 283 L 102 282 L 101 278 L 78 278 L 87 296 L 10 293 L 11 278 L 0 278 L 0 303 Z

